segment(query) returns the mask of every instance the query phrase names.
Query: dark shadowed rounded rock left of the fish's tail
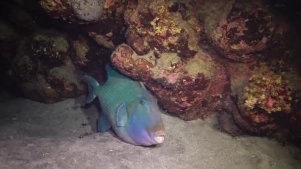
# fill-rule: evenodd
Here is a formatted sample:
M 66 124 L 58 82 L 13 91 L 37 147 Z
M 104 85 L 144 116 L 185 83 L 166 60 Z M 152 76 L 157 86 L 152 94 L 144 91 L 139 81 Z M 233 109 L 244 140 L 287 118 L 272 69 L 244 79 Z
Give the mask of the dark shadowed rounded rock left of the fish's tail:
M 93 75 L 103 80 L 95 47 L 90 44 L 90 48 L 83 37 L 78 39 L 73 38 L 70 44 L 66 34 L 56 31 L 38 32 L 24 39 L 13 58 L 10 76 L 25 97 L 52 103 L 84 94 L 80 70 L 91 70 L 90 75 L 98 70 Z

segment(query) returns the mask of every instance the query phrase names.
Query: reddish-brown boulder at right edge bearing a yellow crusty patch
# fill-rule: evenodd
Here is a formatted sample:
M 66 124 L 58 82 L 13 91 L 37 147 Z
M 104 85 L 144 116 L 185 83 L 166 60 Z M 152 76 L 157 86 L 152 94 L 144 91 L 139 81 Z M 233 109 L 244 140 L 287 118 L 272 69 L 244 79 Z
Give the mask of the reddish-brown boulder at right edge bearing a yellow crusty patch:
M 223 106 L 234 122 L 252 134 L 300 141 L 300 83 L 296 71 L 285 75 L 264 64 L 230 63 L 231 99 Z M 236 132 L 236 131 L 234 131 Z

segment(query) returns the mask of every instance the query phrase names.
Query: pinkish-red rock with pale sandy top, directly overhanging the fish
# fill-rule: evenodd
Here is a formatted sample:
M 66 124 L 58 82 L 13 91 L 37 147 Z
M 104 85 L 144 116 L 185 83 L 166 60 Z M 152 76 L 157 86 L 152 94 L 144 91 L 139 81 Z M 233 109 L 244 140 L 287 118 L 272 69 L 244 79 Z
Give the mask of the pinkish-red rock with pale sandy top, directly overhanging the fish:
M 171 52 L 156 59 L 151 51 L 140 56 L 121 44 L 111 60 L 123 74 L 143 81 L 167 112 L 184 120 L 209 117 L 221 103 L 227 84 L 223 66 L 201 50 L 183 61 Z

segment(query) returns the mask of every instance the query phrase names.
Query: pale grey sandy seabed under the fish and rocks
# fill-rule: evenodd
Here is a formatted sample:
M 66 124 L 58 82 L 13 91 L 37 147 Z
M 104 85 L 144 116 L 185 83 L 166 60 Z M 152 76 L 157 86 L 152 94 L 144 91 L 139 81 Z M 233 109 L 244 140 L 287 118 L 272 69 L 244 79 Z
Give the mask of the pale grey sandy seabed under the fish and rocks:
M 133 146 L 95 132 L 96 106 L 83 109 L 84 101 L 1 100 L 0 169 L 301 169 L 299 149 L 233 138 L 215 129 L 214 117 L 184 122 L 162 114 L 164 143 Z

